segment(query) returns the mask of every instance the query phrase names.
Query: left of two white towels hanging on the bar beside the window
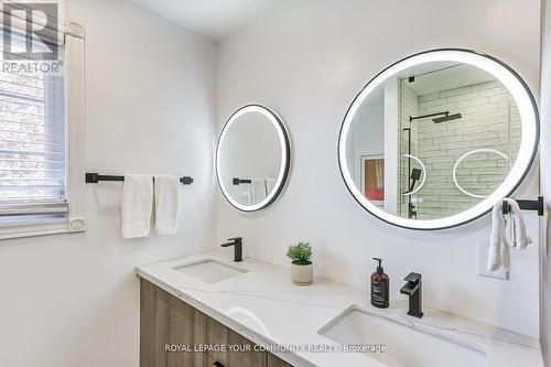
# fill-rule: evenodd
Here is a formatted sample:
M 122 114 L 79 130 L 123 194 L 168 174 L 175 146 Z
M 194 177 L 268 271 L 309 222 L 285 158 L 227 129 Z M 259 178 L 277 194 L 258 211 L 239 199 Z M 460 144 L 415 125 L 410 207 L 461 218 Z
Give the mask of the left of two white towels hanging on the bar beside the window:
M 149 236 L 152 207 L 152 177 L 127 174 L 121 198 L 122 238 Z

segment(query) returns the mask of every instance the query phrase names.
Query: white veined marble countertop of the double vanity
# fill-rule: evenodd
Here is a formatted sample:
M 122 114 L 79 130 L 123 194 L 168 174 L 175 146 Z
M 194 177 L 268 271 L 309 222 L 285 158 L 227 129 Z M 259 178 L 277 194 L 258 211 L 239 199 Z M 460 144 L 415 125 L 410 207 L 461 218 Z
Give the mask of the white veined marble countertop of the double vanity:
M 245 259 L 237 266 L 248 272 L 209 284 L 174 270 L 205 258 L 233 263 L 227 252 L 214 250 L 140 266 L 137 274 L 260 345 L 335 345 L 318 334 L 320 328 L 355 306 L 436 336 L 474 345 L 486 354 L 485 367 L 543 366 L 536 338 L 428 307 L 424 317 L 419 320 L 406 315 L 406 302 L 392 302 L 389 309 L 378 310 L 370 306 L 367 289 L 321 278 L 309 287 L 294 285 L 289 269 L 266 262 Z M 274 354 L 293 366 L 385 366 L 358 353 Z

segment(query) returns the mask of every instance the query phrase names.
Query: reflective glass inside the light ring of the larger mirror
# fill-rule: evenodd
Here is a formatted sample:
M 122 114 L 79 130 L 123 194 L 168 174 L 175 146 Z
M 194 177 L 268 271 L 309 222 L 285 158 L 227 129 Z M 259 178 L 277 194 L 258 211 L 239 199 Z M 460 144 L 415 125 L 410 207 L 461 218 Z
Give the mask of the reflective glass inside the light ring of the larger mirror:
M 361 194 L 385 212 L 437 219 L 480 203 L 508 175 L 521 123 L 493 75 L 431 62 L 378 85 L 356 110 L 346 162 Z

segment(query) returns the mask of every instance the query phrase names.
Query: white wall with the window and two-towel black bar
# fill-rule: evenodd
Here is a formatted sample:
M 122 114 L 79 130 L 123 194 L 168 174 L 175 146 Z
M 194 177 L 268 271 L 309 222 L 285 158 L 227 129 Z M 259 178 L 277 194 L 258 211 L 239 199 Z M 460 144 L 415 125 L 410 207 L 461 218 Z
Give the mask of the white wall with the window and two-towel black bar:
M 119 183 L 87 187 L 88 231 L 0 242 L 0 366 L 138 367 L 134 267 L 213 244 L 215 47 L 119 0 L 68 0 L 87 32 L 87 169 L 192 175 L 179 234 L 120 237 Z

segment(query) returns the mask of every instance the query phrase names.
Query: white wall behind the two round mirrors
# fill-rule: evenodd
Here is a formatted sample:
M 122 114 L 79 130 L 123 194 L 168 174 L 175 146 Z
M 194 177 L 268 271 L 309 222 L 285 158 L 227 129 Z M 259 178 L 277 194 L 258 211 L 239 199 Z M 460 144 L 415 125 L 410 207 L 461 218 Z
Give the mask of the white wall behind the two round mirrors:
M 218 240 L 245 237 L 248 256 L 288 265 L 285 248 L 306 239 L 316 272 L 367 290 L 385 259 L 392 296 L 409 271 L 424 279 L 428 305 L 538 335 L 538 247 L 512 252 L 510 281 L 476 274 L 476 245 L 489 219 L 454 230 L 418 233 L 390 227 L 347 192 L 337 164 L 343 117 L 361 87 L 409 54 L 434 47 L 487 52 L 539 86 L 538 0 L 296 0 L 284 2 L 220 43 L 218 122 L 240 106 L 274 108 L 289 126 L 294 160 L 289 185 L 273 206 L 240 214 L 220 195 Z M 537 177 L 523 193 L 537 195 Z M 538 219 L 528 213 L 530 234 Z M 267 235 L 269 234 L 269 235 Z M 366 295 L 367 296 L 367 295 Z

